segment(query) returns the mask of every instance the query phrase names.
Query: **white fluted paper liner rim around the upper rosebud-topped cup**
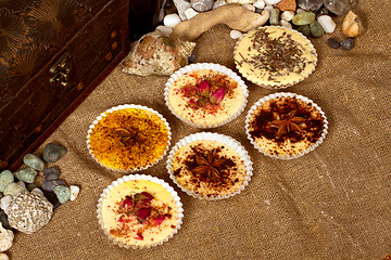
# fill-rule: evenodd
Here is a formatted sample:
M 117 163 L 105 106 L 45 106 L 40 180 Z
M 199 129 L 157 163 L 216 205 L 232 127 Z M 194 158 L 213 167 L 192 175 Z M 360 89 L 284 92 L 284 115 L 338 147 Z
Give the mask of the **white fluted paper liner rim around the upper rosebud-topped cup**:
M 191 122 L 191 121 L 187 120 L 186 118 L 181 117 L 178 113 L 176 113 L 175 109 L 169 104 L 168 92 L 169 92 L 171 86 L 184 74 L 199 70 L 199 69 L 212 69 L 212 70 L 225 74 L 228 77 L 230 77 L 231 79 L 234 79 L 238 83 L 238 87 L 241 88 L 241 90 L 242 90 L 243 98 L 242 98 L 242 103 L 241 103 L 240 108 L 232 116 L 230 116 L 229 118 L 227 118 L 218 123 L 203 125 L 203 123 Z M 249 96 L 248 88 L 247 88 L 244 81 L 240 78 L 240 76 L 238 76 L 231 69 L 229 69 L 223 65 L 213 64 L 213 63 L 194 63 L 194 64 L 190 64 L 188 66 L 185 66 L 185 67 L 178 69 L 168 78 L 167 82 L 165 83 L 165 90 L 164 90 L 164 100 L 166 102 L 168 109 L 184 122 L 186 122 L 194 128 L 202 128 L 202 129 L 220 127 L 220 126 L 226 125 L 226 123 L 232 121 L 234 119 L 236 119 L 244 110 L 244 107 L 245 107 L 247 101 L 248 101 L 248 96 Z

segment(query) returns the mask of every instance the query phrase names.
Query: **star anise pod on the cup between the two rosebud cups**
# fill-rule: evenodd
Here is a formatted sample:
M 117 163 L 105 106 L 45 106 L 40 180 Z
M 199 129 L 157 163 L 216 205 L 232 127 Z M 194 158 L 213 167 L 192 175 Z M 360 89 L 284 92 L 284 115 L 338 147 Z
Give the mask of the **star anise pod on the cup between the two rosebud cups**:
M 218 179 L 222 177 L 219 168 L 224 161 L 224 158 L 217 158 L 214 153 L 210 153 L 206 157 L 195 154 L 195 162 L 198 166 L 192 171 L 197 176 Z

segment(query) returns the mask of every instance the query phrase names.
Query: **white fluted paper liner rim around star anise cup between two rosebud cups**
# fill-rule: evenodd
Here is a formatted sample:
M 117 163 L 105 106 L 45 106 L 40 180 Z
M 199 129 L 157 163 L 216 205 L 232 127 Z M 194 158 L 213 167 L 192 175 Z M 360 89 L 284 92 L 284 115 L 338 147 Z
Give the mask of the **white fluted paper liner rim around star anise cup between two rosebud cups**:
M 218 143 L 225 144 L 231 148 L 234 148 L 236 151 L 236 153 L 241 157 L 241 159 L 244 162 L 245 166 L 245 171 L 247 171 L 247 176 L 244 178 L 244 181 L 241 185 L 240 188 L 238 188 L 236 192 L 228 194 L 228 195 L 217 195 L 217 196 L 202 196 L 200 194 L 194 193 L 193 191 L 189 191 L 188 188 L 184 187 L 182 185 L 180 185 L 173 172 L 173 168 L 172 168 L 172 162 L 173 159 L 175 157 L 176 152 L 184 145 L 189 144 L 193 141 L 202 141 L 202 140 L 210 140 L 210 141 L 216 141 Z M 222 199 L 222 198 L 228 198 L 228 197 L 232 197 L 239 193 L 241 193 L 241 191 L 244 190 L 244 187 L 249 184 L 251 177 L 252 177 L 252 161 L 251 158 L 248 154 L 248 152 L 245 151 L 245 148 L 235 139 L 225 135 L 225 134 L 219 134 L 219 133 L 212 133 L 212 132 L 199 132 L 199 133 L 194 133 L 194 134 L 190 134 L 181 140 L 179 140 L 175 146 L 172 148 L 172 151 L 169 152 L 168 155 L 168 159 L 167 159 L 167 170 L 169 173 L 169 178 L 173 180 L 173 182 L 178 185 L 178 187 L 185 192 L 186 194 L 188 194 L 189 196 L 192 196 L 194 198 L 201 198 L 201 199 L 207 199 L 207 200 L 217 200 L 217 199 Z

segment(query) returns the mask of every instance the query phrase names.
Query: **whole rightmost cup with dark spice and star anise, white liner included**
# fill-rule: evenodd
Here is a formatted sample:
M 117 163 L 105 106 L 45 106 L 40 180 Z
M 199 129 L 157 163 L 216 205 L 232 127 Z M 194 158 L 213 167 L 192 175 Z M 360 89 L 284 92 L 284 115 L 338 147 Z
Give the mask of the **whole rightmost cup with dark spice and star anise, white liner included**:
M 277 159 L 307 154 L 325 139 L 328 121 L 312 100 L 294 93 L 260 99 L 245 118 L 245 132 L 261 153 Z

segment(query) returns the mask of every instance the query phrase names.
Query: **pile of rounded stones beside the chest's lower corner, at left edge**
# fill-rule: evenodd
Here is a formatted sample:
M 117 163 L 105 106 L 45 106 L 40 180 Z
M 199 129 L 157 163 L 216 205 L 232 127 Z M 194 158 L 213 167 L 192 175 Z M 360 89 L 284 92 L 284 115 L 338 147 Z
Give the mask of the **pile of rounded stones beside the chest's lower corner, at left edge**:
M 0 173 L 0 251 L 8 250 L 13 243 L 15 229 L 31 234 L 47 224 L 53 209 L 68 200 L 75 200 L 79 187 L 67 186 L 60 180 L 60 169 L 47 168 L 66 154 L 58 143 L 48 143 L 43 150 L 43 160 L 34 154 L 23 157 L 25 168 L 15 172 L 4 170 Z M 39 185 L 38 176 L 45 181 Z M 39 188 L 40 187 L 40 188 Z M 8 259 L 0 253 L 0 260 Z

